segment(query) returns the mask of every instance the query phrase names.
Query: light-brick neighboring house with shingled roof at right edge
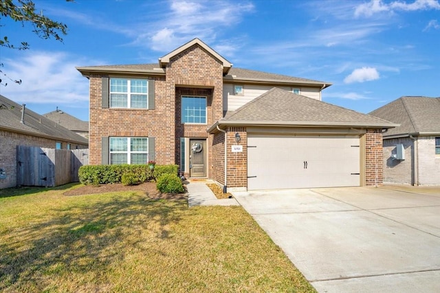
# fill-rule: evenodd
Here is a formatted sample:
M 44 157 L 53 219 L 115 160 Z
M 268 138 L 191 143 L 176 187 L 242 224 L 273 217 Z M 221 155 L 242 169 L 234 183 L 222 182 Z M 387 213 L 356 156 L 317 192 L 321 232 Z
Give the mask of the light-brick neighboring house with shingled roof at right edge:
M 440 185 L 440 97 L 400 97 L 370 114 L 400 124 L 384 133 L 384 182 Z

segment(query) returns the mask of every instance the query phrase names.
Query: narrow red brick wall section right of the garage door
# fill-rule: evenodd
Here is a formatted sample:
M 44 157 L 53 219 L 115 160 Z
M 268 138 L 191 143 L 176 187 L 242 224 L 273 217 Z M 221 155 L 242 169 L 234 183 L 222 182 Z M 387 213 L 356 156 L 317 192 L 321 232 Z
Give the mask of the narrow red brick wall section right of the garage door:
M 365 185 L 382 185 L 384 182 L 382 133 L 380 129 L 367 129 L 365 135 Z

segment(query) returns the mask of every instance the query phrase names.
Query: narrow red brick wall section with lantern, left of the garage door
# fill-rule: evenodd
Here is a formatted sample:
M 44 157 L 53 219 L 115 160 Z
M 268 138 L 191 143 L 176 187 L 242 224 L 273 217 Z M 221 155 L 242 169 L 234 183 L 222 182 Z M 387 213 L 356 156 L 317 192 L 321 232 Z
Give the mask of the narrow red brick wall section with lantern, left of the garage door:
M 248 132 L 245 127 L 228 127 L 227 148 L 228 156 L 228 187 L 248 187 Z M 239 132 L 241 141 L 235 142 L 235 134 Z M 243 145 L 243 152 L 232 152 L 232 145 Z

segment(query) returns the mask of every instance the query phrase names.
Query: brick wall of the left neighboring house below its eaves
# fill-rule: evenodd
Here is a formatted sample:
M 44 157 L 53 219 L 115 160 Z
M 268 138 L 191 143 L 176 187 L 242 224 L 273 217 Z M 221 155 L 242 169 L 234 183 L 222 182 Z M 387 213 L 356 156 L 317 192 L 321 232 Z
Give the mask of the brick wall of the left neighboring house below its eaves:
M 0 168 L 6 172 L 6 179 L 0 179 L 0 189 L 17 185 L 17 145 L 55 148 L 57 142 L 61 142 L 63 148 L 66 148 L 67 143 L 69 143 L 68 141 L 0 130 Z M 88 146 L 71 143 L 71 148 L 88 148 Z

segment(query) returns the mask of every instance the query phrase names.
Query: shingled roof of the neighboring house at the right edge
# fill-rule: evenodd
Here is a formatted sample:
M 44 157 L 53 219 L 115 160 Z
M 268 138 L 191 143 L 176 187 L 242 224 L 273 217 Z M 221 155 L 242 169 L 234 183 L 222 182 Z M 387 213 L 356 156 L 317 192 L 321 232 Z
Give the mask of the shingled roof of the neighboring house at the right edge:
M 384 137 L 440 134 L 440 97 L 399 97 L 369 114 L 400 124 Z

